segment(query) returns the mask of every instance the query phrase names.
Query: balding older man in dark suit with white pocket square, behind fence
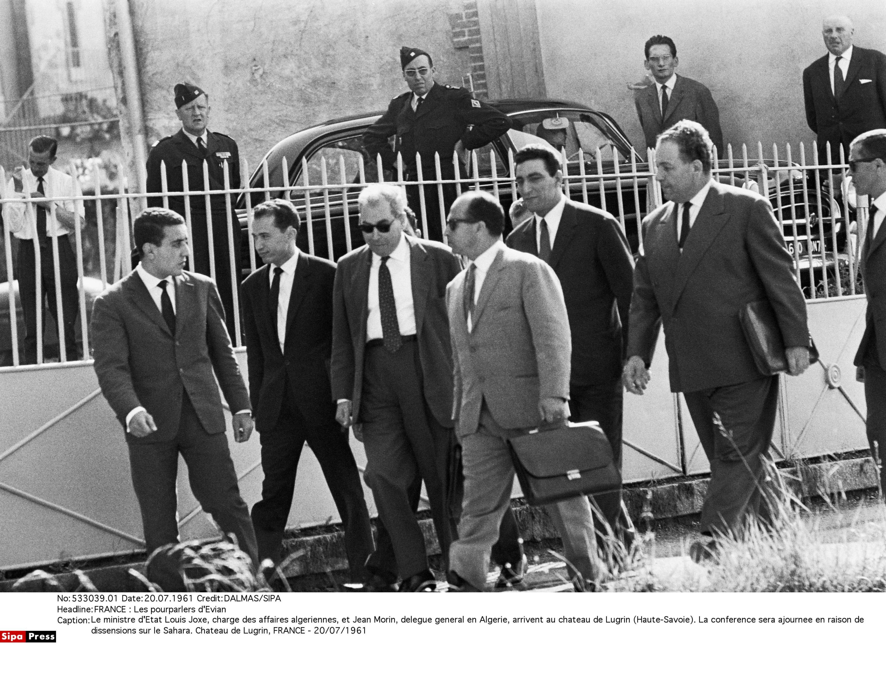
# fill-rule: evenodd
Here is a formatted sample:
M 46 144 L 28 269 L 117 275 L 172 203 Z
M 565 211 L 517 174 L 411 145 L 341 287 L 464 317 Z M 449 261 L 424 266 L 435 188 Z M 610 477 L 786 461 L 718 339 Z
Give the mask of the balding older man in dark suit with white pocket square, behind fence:
M 803 72 L 806 122 L 817 135 L 819 162 L 849 157 L 851 141 L 867 130 L 886 128 L 886 55 L 852 45 L 849 17 L 824 20 L 821 35 L 828 54 Z M 834 70 L 836 68 L 836 70 Z

